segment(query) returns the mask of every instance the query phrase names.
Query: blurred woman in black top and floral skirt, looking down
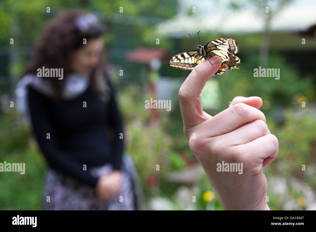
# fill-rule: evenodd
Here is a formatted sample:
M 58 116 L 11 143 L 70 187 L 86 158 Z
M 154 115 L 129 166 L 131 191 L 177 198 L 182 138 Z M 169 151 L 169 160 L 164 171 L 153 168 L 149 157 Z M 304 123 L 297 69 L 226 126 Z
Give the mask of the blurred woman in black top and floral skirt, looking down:
M 17 86 L 50 165 L 45 210 L 135 210 L 122 119 L 100 59 L 104 32 L 93 14 L 58 15 Z

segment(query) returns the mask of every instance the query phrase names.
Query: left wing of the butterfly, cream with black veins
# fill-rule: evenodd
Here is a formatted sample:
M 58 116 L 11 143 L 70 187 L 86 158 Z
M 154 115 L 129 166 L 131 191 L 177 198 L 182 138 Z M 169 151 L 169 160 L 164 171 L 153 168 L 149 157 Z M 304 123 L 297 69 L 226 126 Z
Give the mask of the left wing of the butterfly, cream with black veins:
M 196 50 L 179 53 L 172 57 L 169 64 L 172 68 L 193 70 L 193 68 L 207 57 L 200 57 Z

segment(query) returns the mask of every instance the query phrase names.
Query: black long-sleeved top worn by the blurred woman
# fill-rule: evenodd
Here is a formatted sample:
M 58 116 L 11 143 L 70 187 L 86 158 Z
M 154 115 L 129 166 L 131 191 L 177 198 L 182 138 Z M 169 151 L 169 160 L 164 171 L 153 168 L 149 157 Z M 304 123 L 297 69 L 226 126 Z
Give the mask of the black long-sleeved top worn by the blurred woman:
M 92 187 L 98 178 L 90 174 L 91 167 L 112 163 L 113 169 L 120 170 L 122 163 L 122 119 L 113 87 L 106 80 L 111 89 L 106 104 L 90 87 L 77 98 L 59 103 L 28 87 L 33 131 L 49 165 Z M 114 132 L 113 140 L 109 139 L 108 129 Z M 87 170 L 83 170 L 84 164 Z

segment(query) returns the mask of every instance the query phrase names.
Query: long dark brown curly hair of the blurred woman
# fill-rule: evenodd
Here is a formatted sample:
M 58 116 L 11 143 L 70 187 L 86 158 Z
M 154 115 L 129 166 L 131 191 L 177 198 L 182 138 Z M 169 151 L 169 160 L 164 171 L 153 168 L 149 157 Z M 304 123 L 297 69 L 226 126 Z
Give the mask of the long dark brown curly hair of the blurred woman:
M 28 63 L 22 76 L 36 74 L 38 68 L 63 68 L 64 78 L 47 78 L 52 83 L 54 97 L 57 101 L 62 98 L 62 91 L 67 80 L 67 75 L 72 72 L 70 68 L 70 54 L 83 45 L 83 39 L 99 38 L 106 32 L 101 24 L 88 27 L 87 30 L 80 30 L 76 25 L 76 18 L 87 14 L 83 11 L 64 11 L 57 15 L 43 30 L 40 39 L 35 44 L 31 61 Z M 97 88 L 96 73 L 102 72 L 102 62 L 90 75 L 90 86 Z M 104 70 L 103 70 L 104 71 Z

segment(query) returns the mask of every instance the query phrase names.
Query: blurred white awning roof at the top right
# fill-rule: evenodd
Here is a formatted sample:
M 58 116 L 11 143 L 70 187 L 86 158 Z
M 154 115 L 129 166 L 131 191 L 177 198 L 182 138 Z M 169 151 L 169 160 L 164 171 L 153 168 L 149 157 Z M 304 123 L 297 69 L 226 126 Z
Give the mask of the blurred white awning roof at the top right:
M 249 5 L 249 1 L 240 3 L 247 5 L 239 10 L 228 9 L 228 0 L 181 0 L 179 11 L 172 19 L 157 25 L 157 34 L 170 37 L 183 37 L 191 33 L 197 37 L 198 31 L 212 31 L 214 33 L 258 33 L 264 30 L 264 16 L 258 14 L 257 9 Z M 188 11 L 196 8 L 196 13 L 187 15 Z M 274 6 L 268 5 L 269 12 Z M 265 13 L 265 7 L 262 9 Z M 271 20 L 271 31 L 301 31 L 316 24 L 316 1 L 296 0 L 280 11 L 275 12 Z

